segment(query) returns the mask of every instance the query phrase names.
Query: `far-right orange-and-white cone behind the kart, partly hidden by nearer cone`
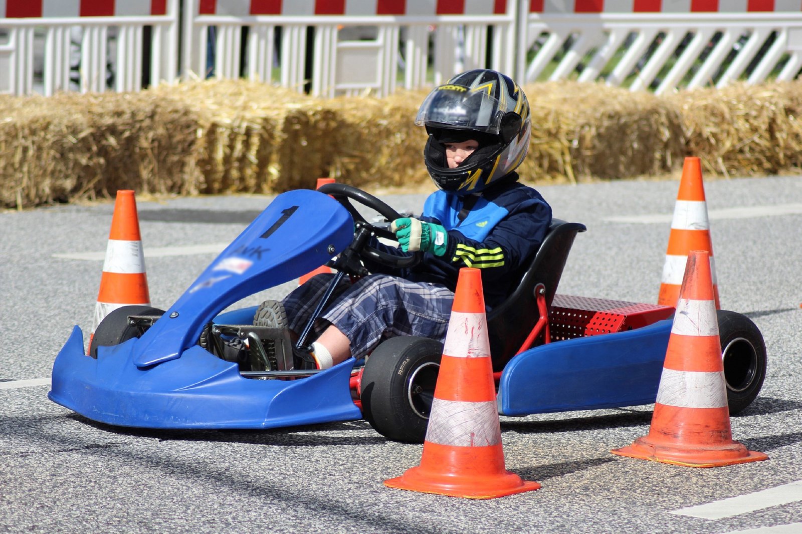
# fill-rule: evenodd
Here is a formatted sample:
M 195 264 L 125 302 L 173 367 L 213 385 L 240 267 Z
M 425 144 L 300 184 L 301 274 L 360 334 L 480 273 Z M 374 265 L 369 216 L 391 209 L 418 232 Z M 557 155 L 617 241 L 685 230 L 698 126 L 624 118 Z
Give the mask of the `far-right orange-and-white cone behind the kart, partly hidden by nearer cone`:
M 710 239 L 710 222 L 707 220 L 707 202 L 702 183 L 702 163 L 697 157 L 685 158 L 683 176 L 679 181 L 677 203 L 668 237 L 666 262 L 662 267 L 662 283 L 658 304 L 677 305 L 679 287 L 683 283 L 685 263 L 691 250 L 707 250 L 710 253 L 711 277 L 715 309 L 719 303 L 719 285 L 715 276 L 713 244 Z

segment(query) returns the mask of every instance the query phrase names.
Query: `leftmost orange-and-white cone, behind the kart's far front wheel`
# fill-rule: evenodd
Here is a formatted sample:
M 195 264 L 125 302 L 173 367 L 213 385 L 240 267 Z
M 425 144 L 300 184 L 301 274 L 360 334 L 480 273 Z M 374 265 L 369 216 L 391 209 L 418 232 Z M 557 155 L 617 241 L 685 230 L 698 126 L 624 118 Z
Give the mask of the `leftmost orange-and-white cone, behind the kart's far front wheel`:
M 93 335 L 111 311 L 129 304 L 150 305 L 150 295 L 134 192 L 118 191 L 95 305 Z

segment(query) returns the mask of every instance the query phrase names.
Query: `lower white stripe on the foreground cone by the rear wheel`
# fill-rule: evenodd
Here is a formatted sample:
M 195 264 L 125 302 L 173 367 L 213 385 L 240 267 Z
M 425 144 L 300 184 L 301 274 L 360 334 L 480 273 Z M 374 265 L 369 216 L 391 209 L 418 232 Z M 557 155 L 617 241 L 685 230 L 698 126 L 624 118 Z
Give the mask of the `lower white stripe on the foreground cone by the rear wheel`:
M 727 406 L 724 372 L 662 370 L 655 403 L 678 408 Z

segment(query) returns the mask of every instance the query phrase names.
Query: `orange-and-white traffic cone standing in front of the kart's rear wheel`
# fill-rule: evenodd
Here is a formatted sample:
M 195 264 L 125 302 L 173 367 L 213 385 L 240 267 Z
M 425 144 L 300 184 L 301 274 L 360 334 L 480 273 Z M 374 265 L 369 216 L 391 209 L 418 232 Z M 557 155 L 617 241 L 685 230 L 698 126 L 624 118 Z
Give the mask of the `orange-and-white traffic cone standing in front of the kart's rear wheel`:
M 768 458 L 732 440 L 713 295 L 707 251 L 691 251 L 649 435 L 613 454 L 690 467 Z

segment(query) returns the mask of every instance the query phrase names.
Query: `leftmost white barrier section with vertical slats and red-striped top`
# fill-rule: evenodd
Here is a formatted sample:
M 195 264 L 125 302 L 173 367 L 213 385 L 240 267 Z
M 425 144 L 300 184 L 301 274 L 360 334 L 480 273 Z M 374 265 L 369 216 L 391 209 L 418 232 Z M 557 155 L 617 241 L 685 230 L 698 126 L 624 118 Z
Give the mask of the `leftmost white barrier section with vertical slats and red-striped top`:
M 0 0 L 0 28 L 9 28 L 8 41 L 0 40 L 0 93 L 34 92 L 34 54 L 41 47 L 34 31 L 39 28 L 45 32 L 44 95 L 71 90 L 71 75 L 82 92 L 105 91 L 109 63 L 115 91 L 140 90 L 146 62 L 151 83 L 174 81 L 179 1 Z

